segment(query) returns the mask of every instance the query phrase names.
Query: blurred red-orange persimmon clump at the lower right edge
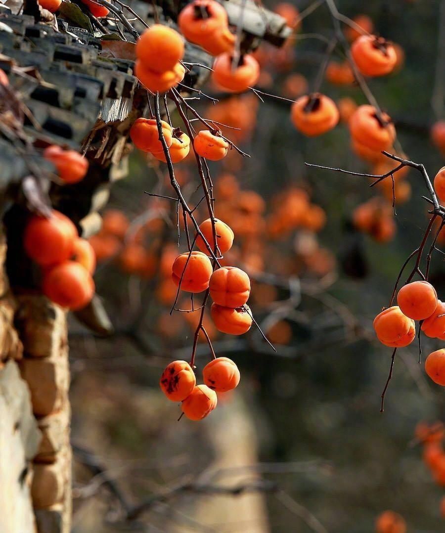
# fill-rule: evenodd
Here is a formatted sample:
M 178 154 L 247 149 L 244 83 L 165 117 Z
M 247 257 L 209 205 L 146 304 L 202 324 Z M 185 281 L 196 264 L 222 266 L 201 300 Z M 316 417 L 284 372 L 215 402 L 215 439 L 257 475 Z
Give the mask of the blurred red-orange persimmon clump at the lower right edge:
M 442 422 L 427 424 L 420 422 L 416 426 L 415 436 L 423 447 L 422 458 L 425 465 L 430 469 L 434 481 L 445 487 L 445 428 Z M 445 518 L 445 496 L 440 503 L 440 514 Z

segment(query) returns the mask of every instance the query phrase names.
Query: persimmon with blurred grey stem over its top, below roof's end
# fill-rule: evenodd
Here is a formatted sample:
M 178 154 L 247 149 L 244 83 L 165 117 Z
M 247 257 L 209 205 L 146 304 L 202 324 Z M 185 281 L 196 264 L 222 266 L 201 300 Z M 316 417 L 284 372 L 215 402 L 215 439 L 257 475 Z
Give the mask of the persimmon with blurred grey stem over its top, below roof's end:
M 242 92 L 252 87 L 260 77 L 260 65 L 252 54 L 241 55 L 233 67 L 229 52 L 217 56 L 213 63 L 212 79 L 227 91 Z

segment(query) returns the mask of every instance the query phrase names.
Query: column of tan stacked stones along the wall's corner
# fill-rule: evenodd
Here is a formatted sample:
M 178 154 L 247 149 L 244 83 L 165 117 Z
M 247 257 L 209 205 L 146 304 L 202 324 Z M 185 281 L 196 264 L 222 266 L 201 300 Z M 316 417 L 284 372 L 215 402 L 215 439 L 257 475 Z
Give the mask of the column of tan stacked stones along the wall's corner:
M 66 312 L 41 295 L 17 297 L 20 370 L 42 440 L 31 496 L 39 533 L 69 533 L 71 516 L 69 364 Z

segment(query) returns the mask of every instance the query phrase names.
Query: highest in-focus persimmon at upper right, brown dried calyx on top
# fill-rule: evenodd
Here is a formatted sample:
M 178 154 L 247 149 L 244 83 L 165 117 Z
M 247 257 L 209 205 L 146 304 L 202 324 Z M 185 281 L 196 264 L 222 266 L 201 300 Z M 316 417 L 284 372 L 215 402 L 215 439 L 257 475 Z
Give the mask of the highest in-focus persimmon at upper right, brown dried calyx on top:
M 386 53 L 376 46 L 378 44 L 384 45 Z M 389 74 L 397 63 L 394 46 L 375 35 L 362 35 L 355 39 L 351 46 L 351 55 L 360 72 L 370 77 Z

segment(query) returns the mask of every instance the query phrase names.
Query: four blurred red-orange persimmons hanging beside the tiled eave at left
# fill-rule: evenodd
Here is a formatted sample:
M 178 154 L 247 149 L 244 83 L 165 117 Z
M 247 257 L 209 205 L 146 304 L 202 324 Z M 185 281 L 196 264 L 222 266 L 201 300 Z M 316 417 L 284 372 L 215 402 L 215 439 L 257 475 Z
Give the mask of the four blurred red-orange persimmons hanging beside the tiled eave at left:
M 52 145 L 43 153 L 64 183 L 83 180 L 88 161 L 73 150 Z M 23 234 L 25 252 L 42 274 L 43 293 L 63 307 L 83 308 L 94 295 L 92 274 L 96 266 L 93 248 L 79 238 L 76 226 L 54 209 L 31 215 Z

